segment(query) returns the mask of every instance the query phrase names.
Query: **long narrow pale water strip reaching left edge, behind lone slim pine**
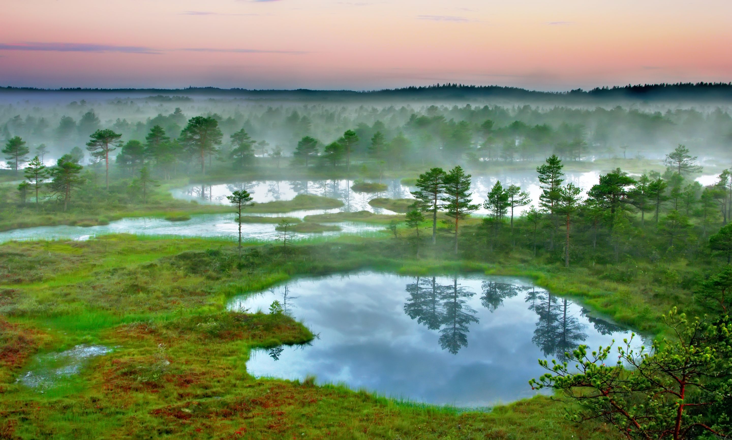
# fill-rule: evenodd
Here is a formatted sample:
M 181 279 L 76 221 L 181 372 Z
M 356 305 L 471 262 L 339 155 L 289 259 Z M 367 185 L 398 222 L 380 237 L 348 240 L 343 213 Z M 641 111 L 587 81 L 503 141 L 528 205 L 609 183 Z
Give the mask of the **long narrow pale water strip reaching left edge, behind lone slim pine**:
M 338 234 L 360 234 L 378 231 L 380 225 L 363 223 L 329 223 L 338 225 L 341 231 L 329 231 L 318 235 L 335 236 Z M 242 239 L 272 241 L 277 238 L 276 224 L 242 223 Z M 239 236 L 235 214 L 192 215 L 190 220 L 171 222 L 162 218 L 125 218 L 97 226 L 39 226 L 37 228 L 12 229 L 0 232 L 0 242 L 26 239 L 74 239 L 86 240 L 92 236 L 103 234 L 141 234 L 141 235 L 173 235 L 203 236 L 236 239 Z M 296 234 L 295 240 L 313 234 Z

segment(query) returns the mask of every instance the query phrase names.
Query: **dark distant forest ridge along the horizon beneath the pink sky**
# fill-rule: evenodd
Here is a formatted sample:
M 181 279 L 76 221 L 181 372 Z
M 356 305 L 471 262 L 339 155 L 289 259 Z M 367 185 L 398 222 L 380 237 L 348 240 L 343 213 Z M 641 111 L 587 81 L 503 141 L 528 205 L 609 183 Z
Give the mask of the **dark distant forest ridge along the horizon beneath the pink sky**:
M 507 100 L 561 100 L 564 102 L 591 102 L 594 100 L 654 100 L 654 101 L 728 101 L 732 100 L 732 83 L 674 83 L 638 84 L 597 87 L 591 90 L 575 89 L 567 92 L 541 92 L 504 86 L 469 86 L 458 83 L 433 86 L 410 86 L 401 89 L 373 91 L 353 90 L 249 90 L 219 89 L 217 87 L 187 87 L 185 89 L 39 89 L 34 87 L 0 87 L 0 93 L 13 92 L 124 92 L 150 94 L 231 95 L 255 99 L 353 100 L 361 99 L 430 99 L 454 100 L 501 98 Z

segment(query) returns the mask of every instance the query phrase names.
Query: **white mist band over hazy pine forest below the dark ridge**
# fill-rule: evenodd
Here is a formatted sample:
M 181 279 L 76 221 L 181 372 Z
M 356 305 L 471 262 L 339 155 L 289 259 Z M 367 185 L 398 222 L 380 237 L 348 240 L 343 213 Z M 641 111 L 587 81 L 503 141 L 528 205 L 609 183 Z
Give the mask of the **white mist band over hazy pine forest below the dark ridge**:
M 149 91 L 2 91 L 0 140 L 18 135 L 31 149 L 40 144 L 51 163 L 100 128 L 122 133 L 123 141 L 143 141 L 160 125 L 176 138 L 193 116 L 213 116 L 223 132 L 223 152 L 231 133 L 244 128 L 261 156 L 279 146 L 290 155 L 305 135 L 320 146 L 355 130 L 362 140 L 356 154 L 367 154 L 381 131 L 387 142 L 406 146 L 389 157 L 388 167 L 439 162 L 521 163 L 557 154 L 565 161 L 604 157 L 660 159 L 684 143 L 706 165 L 731 160 L 732 117 L 727 104 L 689 100 L 598 100 L 569 102 L 542 97 L 534 102 L 507 97 L 411 98 L 395 94 L 366 100 L 340 95 L 186 93 Z M 323 92 L 324 93 L 324 92 Z M 403 138 L 399 135 L 403 135 Z M 116 153 L 119 153 L 119 149 Z M 87 157 L 88 158 L 88 157 Z

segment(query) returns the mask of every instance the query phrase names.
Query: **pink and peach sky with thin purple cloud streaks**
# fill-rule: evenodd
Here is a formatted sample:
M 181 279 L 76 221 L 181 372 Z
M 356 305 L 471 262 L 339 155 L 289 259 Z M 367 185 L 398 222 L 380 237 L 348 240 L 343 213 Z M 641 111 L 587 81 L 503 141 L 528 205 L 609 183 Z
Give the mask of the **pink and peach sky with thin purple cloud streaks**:
M 0 86 L 732 81 L 730 0 L 3 0 Z

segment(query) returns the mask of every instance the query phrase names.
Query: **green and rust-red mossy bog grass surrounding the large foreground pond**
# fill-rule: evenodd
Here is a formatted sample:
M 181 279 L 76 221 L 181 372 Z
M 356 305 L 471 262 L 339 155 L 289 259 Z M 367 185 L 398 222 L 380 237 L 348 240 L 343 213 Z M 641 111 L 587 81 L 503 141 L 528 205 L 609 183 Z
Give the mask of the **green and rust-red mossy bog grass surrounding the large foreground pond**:
M 344 236 L 283 248 L 220 239 L 130 235 L 0 245 L 0 433 L 38 438 L 611 439 L 603 425 L 565 422 L 545 397 L 490 413 L 390 400 L 312 381 L 255 379 L 253 348 L 313 335 L 286 316 L 225 311 L 228 298 L 299 275 L 359 269 L 531 277 L 593 310 L 657 330 L 689 295 L 657 294 L 652 277 L 616 281 L 608 268 L 415 260 L 395 239 Z M 623 268 L 613 268 L 616 272 Z M 643 270 L 646 268 L 642 268 Z M 672 304 L 676 303 L 676 304 Z M 79 343 L 116 347 L 80 376 L 40 394 L 15 382 L 34 354 Z M 305 434 L 305 435 L 303 435 Z

